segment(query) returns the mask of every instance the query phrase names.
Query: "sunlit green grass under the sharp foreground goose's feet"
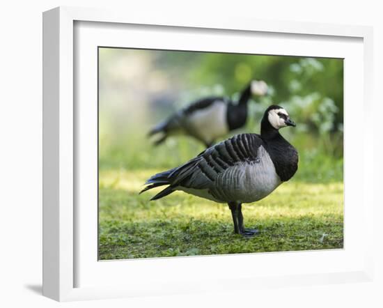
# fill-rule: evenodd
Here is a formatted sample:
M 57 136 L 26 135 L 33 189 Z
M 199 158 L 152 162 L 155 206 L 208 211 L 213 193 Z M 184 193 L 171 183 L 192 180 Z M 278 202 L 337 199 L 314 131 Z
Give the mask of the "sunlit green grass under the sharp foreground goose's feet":
M 343 247 L 343 183 L 291 180 L 269 197 L 243 206 L 245 226 L 233 233 L 224 204 L 175 192 L 150 201 L 138 195 L 159 170 L 100 170 L 99 259 L 276 252 Z

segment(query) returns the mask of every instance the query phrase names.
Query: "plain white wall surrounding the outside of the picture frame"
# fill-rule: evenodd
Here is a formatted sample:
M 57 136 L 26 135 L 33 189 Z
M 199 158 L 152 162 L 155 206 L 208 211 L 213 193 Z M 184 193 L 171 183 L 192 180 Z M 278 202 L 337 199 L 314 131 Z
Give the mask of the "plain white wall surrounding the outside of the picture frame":
M 375 100 L 383 84 L 383 10 L 380 1 L 3 1 L 0 5 L 0 306 L 1 307 L 383 307 L 378 284 L 265 289 L 253 293 L 71 302 L 41 296 L 42 250 L 42 11 L 56 6 L 153 10 L 158 14 L 255 17 L 374 26 Z M 378 129 L 377 121 L 371 123 Z M 380 120 L 381 121 L 381 120 Z M 357 125 L 357 123 L 356 123 Z M 377 134 L 379 131 L 377 130 Z M 357 144 L 356 144 L 357 146 Z M 376 157 L 382 157 L 382 151 Z M 378 160 L 376 163 L 380 164 Z M 377 166 L 378 167 L 378 166 Z M 382 167 L 381 164 L 379 167 Z M 381 170 L 381 169 L 380 169 Z M 382 185 L 380 172 L 375 185 Z M 383 210 L 377 208 L 376 217 Z M 379 220 L 377 220 L 379 222 Z M 382 226 L 376 226 L 377 259 L 383 260 Z M 380 235 L 380 236 L 379 236 Z

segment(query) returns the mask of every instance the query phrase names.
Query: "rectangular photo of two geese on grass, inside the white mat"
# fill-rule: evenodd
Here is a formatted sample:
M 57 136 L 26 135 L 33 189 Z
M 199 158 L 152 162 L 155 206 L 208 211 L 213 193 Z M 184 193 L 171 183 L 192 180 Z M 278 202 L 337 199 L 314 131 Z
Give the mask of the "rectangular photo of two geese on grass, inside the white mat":
M 343 59 L 97 52 L 99 261 L 343 249 Z

